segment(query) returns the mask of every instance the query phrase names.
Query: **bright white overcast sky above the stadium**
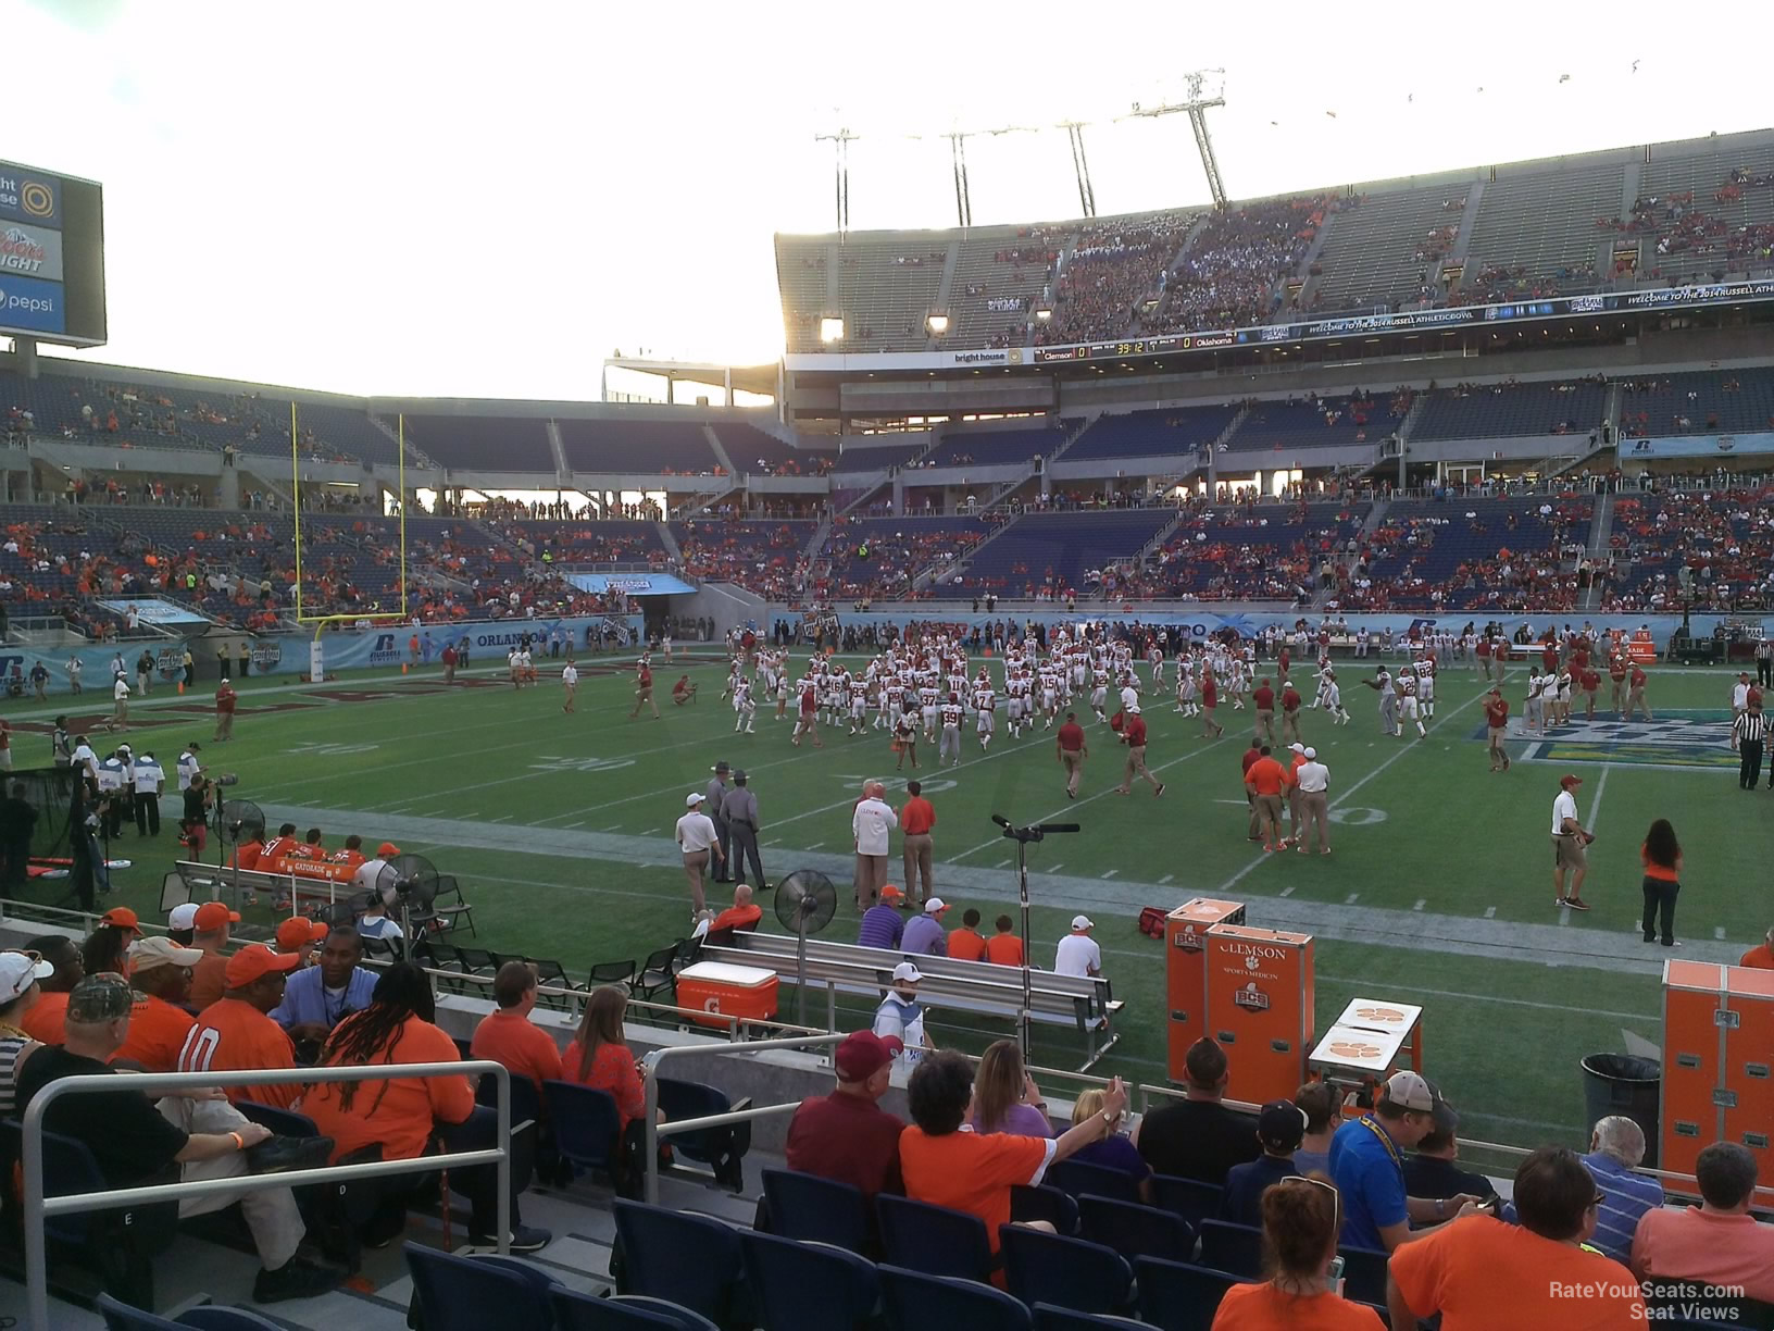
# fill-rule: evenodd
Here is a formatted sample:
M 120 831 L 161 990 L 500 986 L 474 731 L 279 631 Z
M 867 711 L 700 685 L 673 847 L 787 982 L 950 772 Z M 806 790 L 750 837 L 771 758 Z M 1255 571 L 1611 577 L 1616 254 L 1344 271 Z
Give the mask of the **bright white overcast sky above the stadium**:
M 87 358 L 357 394 L 587 399 L 616 350 L 782 351 L 772 234 L 1199 204 L 1762 128 L 1643 14 L 1495 0 L 896 5 L 0 0 L 0 160 L 105 185 Z M 1346 20 L 1346 21 L 1345 21 Z M 1022 128 L 988 135 L 990 130 Z M 1040 133 L 1027 130 L 1040 128 Z M 50 348 L 55 355 L 57 350 Z

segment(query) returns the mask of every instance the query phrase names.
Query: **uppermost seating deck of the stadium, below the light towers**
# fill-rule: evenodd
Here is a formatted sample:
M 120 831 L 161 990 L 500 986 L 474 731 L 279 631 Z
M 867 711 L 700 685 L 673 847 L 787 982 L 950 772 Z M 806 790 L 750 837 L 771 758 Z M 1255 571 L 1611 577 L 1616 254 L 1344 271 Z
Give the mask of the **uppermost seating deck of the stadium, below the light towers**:
M 1233 204 L 781 234 L 788 351 L 1057 346 L 1774 270 L 1774 131 Z M 926 318 L 946 314 L 947 332 Z M 821 337 L 837 316 L 844 335 Z

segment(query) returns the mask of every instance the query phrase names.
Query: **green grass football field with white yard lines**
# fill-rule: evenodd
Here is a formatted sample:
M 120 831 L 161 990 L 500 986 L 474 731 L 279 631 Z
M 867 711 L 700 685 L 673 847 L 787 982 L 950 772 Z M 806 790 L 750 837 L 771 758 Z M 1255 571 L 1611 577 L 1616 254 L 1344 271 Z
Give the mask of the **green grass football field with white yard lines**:
M 832 873 L 841 905 L 825 937 L 853 939 L 850 806 L 864 777 L 910 776 L 892 770 L 882 735 L 827 733 L 820 751 L 793 749 L 788 722 L 770 712 L 759 712 L 756 735 L 734 735 L 717 699 L 717 664 L 690 667 L 701 701 L 674 708 L 665 699 L 662 721 L 626 719 L 626 673 L 587 671 L 578 713 L 562 715 L 559 683 L 543 667 L 545 681 L 522 692 L 484 676 L 444 689 L 435 673 L 321 689 L 254 678 L 241 683 L 238 738 L 227 745 L 208 744 L 206 696 L 156 694 L 137 705 L 131 738 L 169 768 L 179 744 L 202 738 L 211 770 L 238 772 L 232 793 L 257 800 L 273 825 L 287 818 L 323 827 L 328 845 L 358 832 L 369 845 L 387 838 L 429 855 L 468 887 L 483 944 L 569 969 L 639 958 L 685 932 L 671 829 L 685 793 L 727 760 L 752 774 L 770 878 L 798 866 Z M 658 674 L 663 692 L 678 671 Z M 1520 678 L 1517 669 L 1506 687 L 1517 717 Z M 990 815 L 1075 818 L 1082 834 L 1031 854 L 1034 957 L 1052 962 L 1075 910 L 1098 921 L 1126 1003 L 1123 1040 L 1102 1070 L 1164 1081 L 1162 948 L 1135 930 L 1139 907 L 1233 896 L 1249 902 L 1251 925 L 1320 939 L 1320 1029 L 1357 992 L 1414 999 L 1426 1008 L 1428 1070 L 1471 1134 L 1575 1141 L 1584 1118 L 1577 1059 L 1620 1051 L 1629 1036 L 1660 1042 L 1668 953 L 1637 933 L 1637 848 L 1652 818 L 1669 816 L 1687 852 L 1676 955 L 1735 960 L 1774 918 L 1762 886 L 1774 793 L 1737 788 L 1728 690 L 1724 673 L 1659 667 L 1648 690 L 1653 726 L 1620 728 L 1607 713 L 1549 742 L 1515 740 L 1513 768 L 1494 776 L 1476 671 L 1444 671 L 1426 740 L 1387 738 L 1371 694 L 1346 687 L 1352 724 L 1332 728 L 1320 713 L 1306 722 L 1306 742 L 1332 776 L 1330 857 L 1265 857 L 1245 839 L 1238 756 L 1247 712 L 1222 706 L 1228 735 L 1213 742 L 1151 699 L 1148 761 L 1169 786 L 1157 800 L 1144 786 L 1112 793 L 1121 751 L 1103 726 L 1087 728 L 1077 802 L 1064 797 L 1045 731 L 1022 742 L 1001 733 L 986 756 L 969 742 L 949 772 L 921 752 L 919 776 L 938 811 L 937 887 L 958 907 L 951 925 L 967 905 L 990 921 L 1017 893 L 1011 847 Z M 14 728 L 53 710 L 18 712 Z M 27 760 L 35 742 L 16 738 Z M 1598 832 L 1584 889 L 1593 910 L 1577 916 L 1554 909 L 1549 882 L 1550 804 L 1565 770 L 1584 777 L 1579 809 Z M 151 850 L 126 834 L 121 854 L 137 862 L 117 875 L 121 898 L 153 912 L 174 852 L 170 832 Z M 777 928 L 768 896 L 763 903 L 765 928 Z M 933 1019 L 938 1040 L 963 1047 L 1008 1033 L 986 1026 Z M 1036 1061 L 1073 1067 L 1073 1042 L 1038 1029 Z

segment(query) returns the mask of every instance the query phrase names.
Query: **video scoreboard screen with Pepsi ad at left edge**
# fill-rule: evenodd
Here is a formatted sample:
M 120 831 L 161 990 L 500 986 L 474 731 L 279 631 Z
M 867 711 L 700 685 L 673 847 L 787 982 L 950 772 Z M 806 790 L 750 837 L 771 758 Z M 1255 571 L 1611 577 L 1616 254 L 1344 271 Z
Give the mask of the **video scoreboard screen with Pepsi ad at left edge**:
M 105 190 L 0 161 L 0 335 L 105 341 Z

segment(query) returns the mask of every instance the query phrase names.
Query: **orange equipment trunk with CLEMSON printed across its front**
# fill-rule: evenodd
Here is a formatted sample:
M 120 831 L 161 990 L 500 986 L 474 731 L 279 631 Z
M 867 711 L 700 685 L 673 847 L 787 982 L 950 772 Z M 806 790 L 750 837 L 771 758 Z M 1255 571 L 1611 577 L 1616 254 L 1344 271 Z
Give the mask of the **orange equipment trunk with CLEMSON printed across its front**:
M 1244 925 L 1208 930 L 1208 1033 L 1236 1100 L 1291 1100 L 1313 1047 L 1313 939 Z

